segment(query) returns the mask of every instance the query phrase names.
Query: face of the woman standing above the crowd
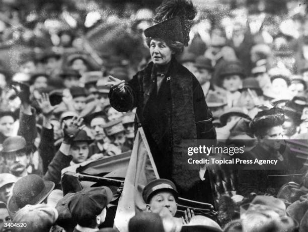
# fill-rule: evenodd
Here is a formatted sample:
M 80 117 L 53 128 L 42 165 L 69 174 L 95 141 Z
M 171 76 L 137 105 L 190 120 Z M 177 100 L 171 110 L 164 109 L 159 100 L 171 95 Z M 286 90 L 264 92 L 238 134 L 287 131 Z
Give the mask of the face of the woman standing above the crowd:
M 152 39 L 150 42 L 150 54 L 153 63 L 164 65 L 170 62 L 173 51 L 164 41 Z

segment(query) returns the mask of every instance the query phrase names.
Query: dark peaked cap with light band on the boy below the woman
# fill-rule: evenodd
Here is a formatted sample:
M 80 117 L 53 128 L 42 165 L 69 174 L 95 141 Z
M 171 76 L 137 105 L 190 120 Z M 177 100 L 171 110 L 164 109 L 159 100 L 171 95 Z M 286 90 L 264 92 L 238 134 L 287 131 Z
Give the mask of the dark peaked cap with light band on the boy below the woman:
M 178 198 L 179 193 L 175 184 L 167 179 L 156 179 L 148 182 L 142 191 L 142 198 L 145 203 L 149 203 L 153 195 L 162 191 L 170 191 L 176 199 Z

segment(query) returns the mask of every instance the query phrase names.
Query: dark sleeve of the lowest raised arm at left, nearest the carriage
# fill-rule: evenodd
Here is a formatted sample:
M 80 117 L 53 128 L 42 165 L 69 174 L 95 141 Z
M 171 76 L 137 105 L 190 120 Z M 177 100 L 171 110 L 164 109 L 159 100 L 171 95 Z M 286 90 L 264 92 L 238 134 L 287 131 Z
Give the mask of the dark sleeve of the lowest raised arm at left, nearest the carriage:
M 71 156 L 65 156 L 65 154 L 58 150 L 49 164 L 48 171 L 43 179 L 45 181 L 52 181 L 57 185 L 61 181 L 61 170 L 68 167 L 71 160 Z

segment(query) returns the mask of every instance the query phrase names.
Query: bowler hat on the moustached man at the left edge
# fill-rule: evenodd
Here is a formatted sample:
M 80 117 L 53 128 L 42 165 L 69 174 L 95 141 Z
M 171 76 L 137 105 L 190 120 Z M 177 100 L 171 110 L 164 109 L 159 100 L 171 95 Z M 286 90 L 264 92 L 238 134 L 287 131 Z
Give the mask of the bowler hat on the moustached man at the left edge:
M 11 152 L 30 150 L 31 146 L 27 145 L 26 139 L 22 136 L 11 136 L 4 140 L 2 154 L 7 154 Z

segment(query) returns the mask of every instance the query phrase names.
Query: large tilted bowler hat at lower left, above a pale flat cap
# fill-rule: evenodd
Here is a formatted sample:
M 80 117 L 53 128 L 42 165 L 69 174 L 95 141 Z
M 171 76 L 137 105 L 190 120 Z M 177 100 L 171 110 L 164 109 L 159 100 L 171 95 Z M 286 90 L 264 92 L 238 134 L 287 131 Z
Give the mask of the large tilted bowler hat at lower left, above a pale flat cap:
M 8 210 L 12 218 L 15 213 L 27 204 L 36 205 L 42 203 L 55 184 L 44 181 L 40 176 L 31 174 L 19 179 L 13 187 L 13 195 L 8 201 Z

